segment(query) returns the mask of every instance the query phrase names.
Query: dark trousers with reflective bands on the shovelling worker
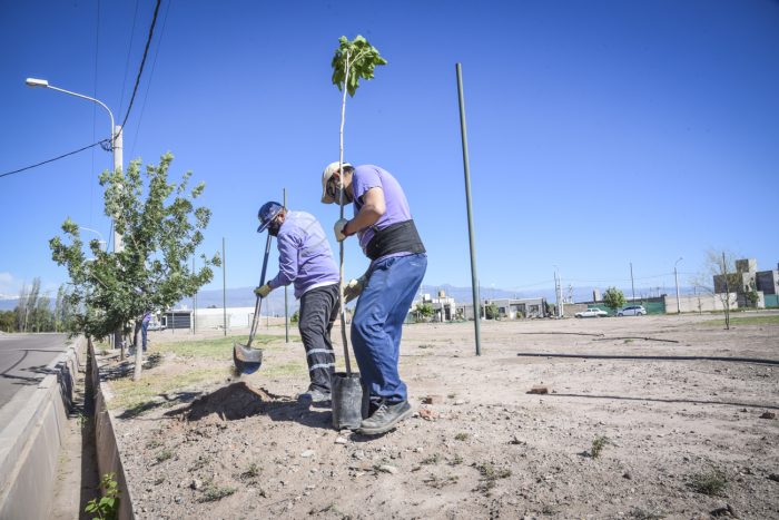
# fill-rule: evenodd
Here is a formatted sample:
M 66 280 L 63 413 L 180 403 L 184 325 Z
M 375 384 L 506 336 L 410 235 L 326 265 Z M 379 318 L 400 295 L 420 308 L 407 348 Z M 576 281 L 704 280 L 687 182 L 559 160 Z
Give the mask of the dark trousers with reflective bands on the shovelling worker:
M 335 352 L 331 343 L 334 310 L 338 305 L 338 284 L 316 287 L 300 297 L 300 337 L 312 387 L 329 392 L 335 372 Z

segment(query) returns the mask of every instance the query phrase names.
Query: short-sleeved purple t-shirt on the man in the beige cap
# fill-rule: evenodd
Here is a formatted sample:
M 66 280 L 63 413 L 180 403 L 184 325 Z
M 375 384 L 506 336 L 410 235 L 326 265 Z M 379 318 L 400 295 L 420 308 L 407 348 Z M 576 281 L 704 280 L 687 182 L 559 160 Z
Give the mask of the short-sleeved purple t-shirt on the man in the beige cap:
M 357 233 L 359 237 L 359 247 L 363 253 L 371 239 L 376 235 L 376 229 L 397 224 L 398 222 L 411 220 L 411 209 L 408 209 L 408 200 L 403 193 L 403 188 L 395 180 L 389 171 L 374 165 L 361 165 L 354 168 L 352 177 L 352 188 L 354 190 L 354 215 L 356 216 L 363 207 L 363 195 L 371 188 L 382 188 L 384 192 L 385 212 L 376 223 Z M 400 256 L 407 253 L 396 253 L 387 256 Z

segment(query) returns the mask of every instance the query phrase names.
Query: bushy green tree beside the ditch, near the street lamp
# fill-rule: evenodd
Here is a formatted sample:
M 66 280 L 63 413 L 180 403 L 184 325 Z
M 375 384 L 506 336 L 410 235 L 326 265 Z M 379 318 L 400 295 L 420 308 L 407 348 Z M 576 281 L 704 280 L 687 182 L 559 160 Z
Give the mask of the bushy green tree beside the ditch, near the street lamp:
M 127 324 L 140 322 L 147 311 L 166 310 L 194 295 L 211 281 L 210 266 L 220 265 L 218 254 L 200 255 L 203 267 L 190 268 L 188 261 L 203 243 L 211 212 L 195 206 L 205 184 L 189 189 L 191 171 L 178 183 L 168 180 L 171 161 L 172 155 L 166 154 L 142 174 L 140 160 L 134 160 L 127 173 L 106 170 L 100 176 L 105 213 L 125 244 L 120 253 L 105 252 L 92 239 L 92 258 L 87 262 L 79 227 L 70 218 L 62 224 L 65 236 L 49 242 L 53 261 L 67 266 L 73 284 L 65 300 L 80 310 L 73 320 L 76 332 L 105 337 L 127 331 Z M 137 381 L 141 356 L 140 349 L 136 351 Z

